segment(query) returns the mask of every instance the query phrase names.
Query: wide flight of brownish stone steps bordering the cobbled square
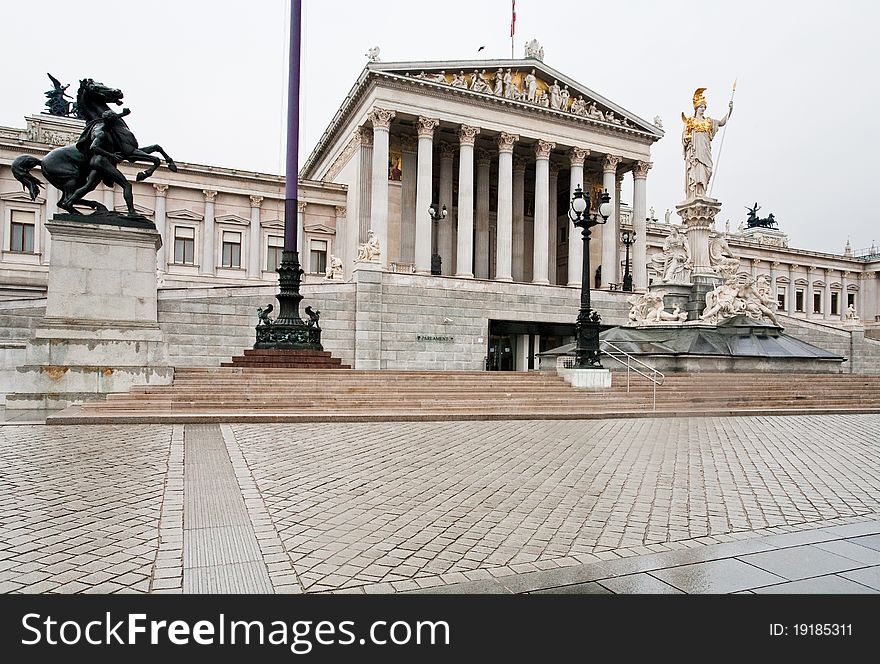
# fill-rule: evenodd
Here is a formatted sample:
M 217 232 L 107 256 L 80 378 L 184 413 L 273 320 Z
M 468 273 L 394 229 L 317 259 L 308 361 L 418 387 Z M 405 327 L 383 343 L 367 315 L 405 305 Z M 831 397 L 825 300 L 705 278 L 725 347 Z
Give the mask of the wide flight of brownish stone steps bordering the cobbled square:
M 688 374 L 657 388 L 615 375 L 582 391 L 552 372 L 178 369 L 174 384 L 74 406 L 53 424 L 592 419 L 880 412 L 880 375 Z

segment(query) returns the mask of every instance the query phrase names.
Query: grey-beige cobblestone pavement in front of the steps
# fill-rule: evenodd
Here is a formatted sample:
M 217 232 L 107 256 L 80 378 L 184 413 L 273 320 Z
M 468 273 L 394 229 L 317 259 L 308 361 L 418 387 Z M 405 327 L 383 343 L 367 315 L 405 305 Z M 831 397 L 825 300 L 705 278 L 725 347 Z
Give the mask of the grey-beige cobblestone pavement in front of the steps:
M 7 425 L 0 591 L 589 592 L 603 565 L 654 560 L 602 591 L 732 592 L 792 581 L 784 558 L 753 557 L 784 533 L 870 589 L 878 430 L 878 415 Z M 862 539 L 826 550 L 844 536 Z M 754 583 L 674 572 L 710 559 L 704 576 Z

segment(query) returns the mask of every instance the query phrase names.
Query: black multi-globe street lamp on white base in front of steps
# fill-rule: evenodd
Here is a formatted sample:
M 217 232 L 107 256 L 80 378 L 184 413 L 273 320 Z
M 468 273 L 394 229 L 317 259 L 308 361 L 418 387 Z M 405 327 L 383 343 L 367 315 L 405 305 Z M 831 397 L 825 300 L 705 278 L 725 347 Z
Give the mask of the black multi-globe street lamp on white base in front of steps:
M 571 197 L 568 217 L 575 226 L 582 230 L 584 238 L 584 262 L 581 271 L 581 308 L 578 311 L 575 334 L 576 369 L 601 369 L 599 362 L 599 324 L 602 319 L 599 312 L 590 307 L 590 229 L 604 224 L 611 216 L 611 196 L 606 189 L 602 193 L 598 214 L 590 213 L 590 201 L 578 185 Z

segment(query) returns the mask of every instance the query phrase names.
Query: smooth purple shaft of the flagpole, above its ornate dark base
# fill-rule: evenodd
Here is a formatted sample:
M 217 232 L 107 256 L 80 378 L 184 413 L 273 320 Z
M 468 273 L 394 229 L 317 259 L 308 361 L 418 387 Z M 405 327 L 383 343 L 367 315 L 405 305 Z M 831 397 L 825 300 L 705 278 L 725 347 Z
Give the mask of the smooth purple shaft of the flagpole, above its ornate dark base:
M 287 171 L 284 183 L 284 251 L 297 247 L 299 177 L 299 56 L 302 0 L 290 0 L 290 62 L 287 81 Z

